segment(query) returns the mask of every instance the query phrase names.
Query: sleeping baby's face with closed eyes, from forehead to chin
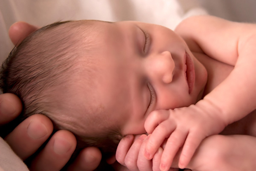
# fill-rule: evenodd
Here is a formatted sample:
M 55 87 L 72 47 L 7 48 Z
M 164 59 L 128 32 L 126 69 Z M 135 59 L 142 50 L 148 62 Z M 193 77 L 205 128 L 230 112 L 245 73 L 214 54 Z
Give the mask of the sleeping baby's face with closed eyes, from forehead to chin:
M 104 111 L 100 118 L 105 122 L 96 124 L 116 125 L 123 135 L 142 134 L 153 110 L 188 106 L 201 98 L 206 70 L 172 30 L 134 21 L 95 24 L 100 69 L 95 71 L 94 104 Z M 88 98 L 78 90 L 79 99 Z

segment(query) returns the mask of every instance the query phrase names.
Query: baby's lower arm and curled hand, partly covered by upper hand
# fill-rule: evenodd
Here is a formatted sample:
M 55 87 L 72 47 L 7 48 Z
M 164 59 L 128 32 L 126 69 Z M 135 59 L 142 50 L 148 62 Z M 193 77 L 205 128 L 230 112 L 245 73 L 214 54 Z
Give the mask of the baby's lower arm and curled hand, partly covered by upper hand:
M 156 153 L 152 160 L 145 159 L 143 152 L 148 142 L 147 136 L 137 138 L 127 136 L 121 140 L 116 152 L 116 159 L 125 171 L 160 171 L 160 158 L 162 148 Z M 136 139 L 137 138 L 137 139 Z M 187 168 L 192 171 L 253 171 L 255 169 L 256 154 L 252 152 L 256 140 L 247 135 L 214 135 L 205 138 L 197 148 Z M 234 150 L 235 149 L 235 150 Z M 178 167 L 180 150 L 173 160 L 172 167 Z M 158 158 L 158 156 L 160 156 Z M 170 169 L 177 171 L 178 169 Z

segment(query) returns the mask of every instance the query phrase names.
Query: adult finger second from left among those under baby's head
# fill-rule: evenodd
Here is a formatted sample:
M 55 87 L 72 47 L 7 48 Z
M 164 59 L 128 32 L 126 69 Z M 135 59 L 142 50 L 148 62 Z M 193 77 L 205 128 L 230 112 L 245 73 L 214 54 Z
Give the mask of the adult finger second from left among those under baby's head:
M 35 114 L 25 119 L 10 134 L 5 141 L 23 160 L 35 153 L 52 134 L 53 125 L 44 115 Z

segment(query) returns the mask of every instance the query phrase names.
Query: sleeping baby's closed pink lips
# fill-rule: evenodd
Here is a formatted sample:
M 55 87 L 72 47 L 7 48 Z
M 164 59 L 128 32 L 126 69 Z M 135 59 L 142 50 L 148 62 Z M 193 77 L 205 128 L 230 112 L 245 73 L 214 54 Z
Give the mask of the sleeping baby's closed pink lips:
M 185 77 L 188 85 L 188 93 L 190 94 L 194 88 L 195 73 L 194 63 L 187 52 L 185 53 Z

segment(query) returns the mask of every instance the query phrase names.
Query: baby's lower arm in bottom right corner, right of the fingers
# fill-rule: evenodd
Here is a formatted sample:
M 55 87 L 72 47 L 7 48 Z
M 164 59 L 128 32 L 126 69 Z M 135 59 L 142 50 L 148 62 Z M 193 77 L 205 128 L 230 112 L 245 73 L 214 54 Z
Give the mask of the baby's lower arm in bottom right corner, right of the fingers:
M 213 135 L 205 138 L 187 168 L 192 171 L 255 171 L 256 138 Z

